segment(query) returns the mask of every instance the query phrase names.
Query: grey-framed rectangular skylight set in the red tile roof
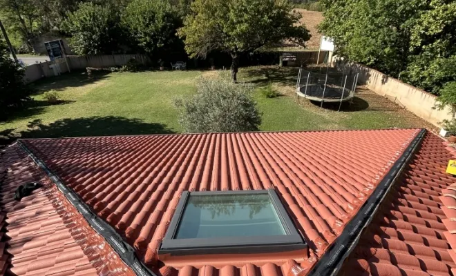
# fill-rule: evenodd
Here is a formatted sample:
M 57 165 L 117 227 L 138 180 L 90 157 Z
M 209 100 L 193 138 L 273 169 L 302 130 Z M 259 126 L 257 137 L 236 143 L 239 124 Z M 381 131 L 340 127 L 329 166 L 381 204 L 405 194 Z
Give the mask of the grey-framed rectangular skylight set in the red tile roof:
M 274 190 L 184 192 L 159 254 L 266 253 L 306 248 Z

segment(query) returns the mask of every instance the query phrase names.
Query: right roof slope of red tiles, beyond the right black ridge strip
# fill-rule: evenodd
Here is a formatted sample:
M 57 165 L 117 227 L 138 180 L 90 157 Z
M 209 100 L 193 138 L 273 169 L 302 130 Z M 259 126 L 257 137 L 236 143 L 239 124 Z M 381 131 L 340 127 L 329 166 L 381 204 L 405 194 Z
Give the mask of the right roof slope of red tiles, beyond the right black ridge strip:
M 342 275 L 456 274 L 456 178 L 445 172 L 450 159 L 443 140 L 428 133 Z

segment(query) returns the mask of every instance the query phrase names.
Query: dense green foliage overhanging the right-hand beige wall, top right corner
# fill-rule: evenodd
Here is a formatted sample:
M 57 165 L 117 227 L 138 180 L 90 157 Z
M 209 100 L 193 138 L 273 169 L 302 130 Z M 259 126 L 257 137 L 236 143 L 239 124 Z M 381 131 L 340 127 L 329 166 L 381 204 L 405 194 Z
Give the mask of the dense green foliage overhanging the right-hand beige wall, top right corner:
M 337 54 L 439 94 L 456 80 L 456 1 L 321 0 Z

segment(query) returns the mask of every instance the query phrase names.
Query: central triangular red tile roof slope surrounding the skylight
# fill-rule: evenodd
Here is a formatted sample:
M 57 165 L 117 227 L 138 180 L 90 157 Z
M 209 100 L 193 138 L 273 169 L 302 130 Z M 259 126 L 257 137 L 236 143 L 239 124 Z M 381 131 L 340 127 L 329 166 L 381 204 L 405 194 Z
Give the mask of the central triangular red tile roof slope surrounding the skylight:
M 24 140 L 65 184 L 162 274 L 285 275 L 311 266 L 419 130 L 253 132 Z M 159 262 L 183 190 L 274 188 L 310 244 L 283 259 Z

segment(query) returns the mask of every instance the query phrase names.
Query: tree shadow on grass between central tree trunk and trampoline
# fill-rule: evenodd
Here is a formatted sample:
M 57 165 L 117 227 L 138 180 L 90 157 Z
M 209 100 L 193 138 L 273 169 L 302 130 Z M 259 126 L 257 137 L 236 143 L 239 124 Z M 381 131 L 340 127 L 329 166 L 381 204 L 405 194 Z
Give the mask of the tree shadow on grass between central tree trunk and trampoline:
M 278 83 L 284 86 L 296 86 L 299 68 L 297 67 L 251 67 L 243 71 L 243 76 L 251 83 L 260 86 L 267 85 L 269 82 Z

